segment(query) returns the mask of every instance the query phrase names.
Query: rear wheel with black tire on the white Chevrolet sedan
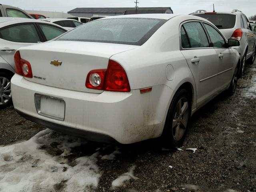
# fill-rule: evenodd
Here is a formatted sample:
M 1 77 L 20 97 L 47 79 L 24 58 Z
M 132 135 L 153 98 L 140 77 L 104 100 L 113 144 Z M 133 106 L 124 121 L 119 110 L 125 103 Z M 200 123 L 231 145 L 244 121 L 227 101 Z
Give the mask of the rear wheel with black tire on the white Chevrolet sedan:
M 184 108 L 183 114 L 180 114 L 182 113 L 182 110 L 178 109 L 180 106 L 181 109 Z M 188 107 L 187 110 L 185 110 L 186 106 Z M 182 88 L 174 95 L 166 116 L 164 131 L 162 133 L 163 144 L 165 147 L 176 148 L 182 146 L 190 126 L 190 118 L 191 96 L 186 89 Z M 186 124 L 184 123 L 185 121 Z M 176 124 L 176 126 L 174 126 L 174 124 Z

